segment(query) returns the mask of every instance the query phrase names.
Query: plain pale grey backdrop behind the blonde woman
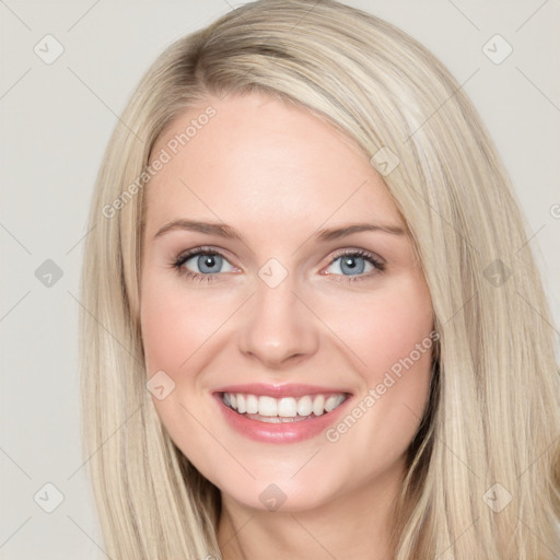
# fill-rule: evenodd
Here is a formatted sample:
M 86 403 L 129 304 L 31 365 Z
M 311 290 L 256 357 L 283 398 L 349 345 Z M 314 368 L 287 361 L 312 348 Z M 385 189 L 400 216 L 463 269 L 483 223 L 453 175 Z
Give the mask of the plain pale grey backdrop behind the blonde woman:
M 558 334 L 558 0 L 345 3 L 419 39 L 472 98 L 527 217 Z M 240 4 L 0 2 L 4 560 L 106 558 L 79 431 L 79 280 L 93 184 L 118 115 L 149 65 L 175 39 Z M 506 265 L 515 267 L 515 256 Z

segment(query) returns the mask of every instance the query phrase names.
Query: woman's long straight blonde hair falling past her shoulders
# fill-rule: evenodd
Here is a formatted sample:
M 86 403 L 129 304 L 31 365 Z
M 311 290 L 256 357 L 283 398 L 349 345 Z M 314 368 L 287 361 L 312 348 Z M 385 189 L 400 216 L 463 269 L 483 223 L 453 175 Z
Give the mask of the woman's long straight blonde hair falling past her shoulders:
M 221 557 L 220 492 L 171 441 L 145 388 L 142 187 L 152 147 L 175 117 L 249 92 L 325 119 L 382 174 L 387 154 L 397 163 L 384 179 L 420 257 L 440 341 L 398 500 L 395 558 L 552 558 L 553 330 L 506 172 L 440 61 L 393 25 L 331 0 L 253 2 L 177 40 L 141 80 L 107 147 L 84 253 L 80 348 L 83 454 L 106 552 Z

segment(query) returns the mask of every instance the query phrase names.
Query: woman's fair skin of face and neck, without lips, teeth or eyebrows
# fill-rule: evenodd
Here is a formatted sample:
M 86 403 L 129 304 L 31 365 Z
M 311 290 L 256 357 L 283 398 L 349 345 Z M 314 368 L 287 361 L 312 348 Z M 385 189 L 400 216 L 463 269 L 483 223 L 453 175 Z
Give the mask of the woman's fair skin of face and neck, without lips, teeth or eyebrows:
M 208 105 L 217 115 L 145 187 L 147 374 L 164 371 L 175 383 L 166 398 L 153 398 L 158 415 L 221 490 L 225 560 L 388 559 L 392 504 L 428 404 L 430 351 L 336 443 L 325 434 L 291 444 L 248 440 L 219 413 L 212 392 L 237 383 L 303 383 L 345 388 L 362 400 L 432 331 L 428 287 L 406 233 L 359 232 L 328 242 L 313 235 L 357 222 L 406 225 L 350 139 L 271 97 L 209 97 L 172 122 L 152 153 Z M 154 238 L 176 219 L 226 223 L 244 242 L 184 230 Z M 173 268 L 182 253 L 201 246 L 225 257 L 210 282 Z M 386 268 L 358 258 L 365 269 L 349 281 L 353 276 L 337 258 L 341 249 L 371 253 Z M 270 258 L 288 271 L 273 289 L 258 276 Z M 195 256 L 183 268 L 202 275 L 199 266 Z M 259 500 L 270 483 L 285 494 L 278 511 Z

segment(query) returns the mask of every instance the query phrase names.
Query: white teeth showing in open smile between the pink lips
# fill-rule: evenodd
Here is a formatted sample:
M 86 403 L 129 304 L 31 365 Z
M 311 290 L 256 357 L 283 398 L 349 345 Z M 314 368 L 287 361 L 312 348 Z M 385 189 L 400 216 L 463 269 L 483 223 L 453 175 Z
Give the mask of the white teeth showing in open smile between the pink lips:
M 350 396 L 347 393 L 334 395 L 304 395 L 302 397 L 275 398 L 245 393 L 221 393 L 222 402 L 240 416 L 268 423 L 301 422 L 338 408 Z

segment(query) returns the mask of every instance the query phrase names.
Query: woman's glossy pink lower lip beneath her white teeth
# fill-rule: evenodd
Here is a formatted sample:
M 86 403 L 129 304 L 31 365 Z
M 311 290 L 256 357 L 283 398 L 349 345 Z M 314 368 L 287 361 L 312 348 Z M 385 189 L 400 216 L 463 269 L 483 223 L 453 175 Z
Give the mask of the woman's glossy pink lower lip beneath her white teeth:
M 220 394 L 214 394 L 213 396 L 225 420 L 234 430 L 250 440 L 264 443 L 296 443 L 317 436 L 338 420 L 352 398 L 348 396 L 335 410 L 310 418 L 308 420 L 270 423 L 259 422 L 258 420 L 252 420 L 243 415 L 238 415 L 225 406 Z

